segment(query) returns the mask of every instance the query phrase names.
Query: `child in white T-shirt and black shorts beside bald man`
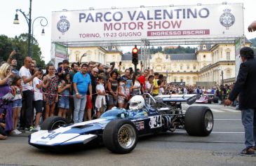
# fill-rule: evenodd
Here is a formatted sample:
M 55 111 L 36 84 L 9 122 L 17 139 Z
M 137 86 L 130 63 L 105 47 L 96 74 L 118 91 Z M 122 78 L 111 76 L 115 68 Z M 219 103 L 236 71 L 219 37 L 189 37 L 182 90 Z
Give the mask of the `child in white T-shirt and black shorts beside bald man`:
M 43 71 L 41 69 L 36 69 L 41 73 L 33 79 L 33 88 L 34 88 L 34 108 L 36 109 L 36 118 L 34 124 L 34 130 L 39 131 L 41 127 L 39 126 L 39 121 L 43 112 L 43 88 L 44 84 L 41 81 L 43 77 Z

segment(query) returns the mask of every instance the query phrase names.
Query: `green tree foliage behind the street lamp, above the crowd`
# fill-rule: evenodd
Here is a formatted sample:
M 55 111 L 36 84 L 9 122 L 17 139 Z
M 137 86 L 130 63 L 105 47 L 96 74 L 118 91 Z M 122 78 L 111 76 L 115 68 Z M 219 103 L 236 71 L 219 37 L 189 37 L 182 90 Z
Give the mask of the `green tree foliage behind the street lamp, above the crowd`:
M 13 50 L 16 50 L 16 55 L 13 56 L 13 59 L 17 60 L 18 69 L 22 67 L 24 64 L 25 57 L 28 55 L 27 53 L 27 34 L 20 34 L 20 36 L 15 36 L 15 38 L 8 38 L 8 36 L 0 35 L 0 62 L 7 61 L 10 53 Z M 41 49 L 39 48 L 39 44 L 36 39 L 34 39 L 33 46 L 33 55 L 32 59 L 36 60 L 36 66 L 45 68 L 46 64 L 41 57 Z

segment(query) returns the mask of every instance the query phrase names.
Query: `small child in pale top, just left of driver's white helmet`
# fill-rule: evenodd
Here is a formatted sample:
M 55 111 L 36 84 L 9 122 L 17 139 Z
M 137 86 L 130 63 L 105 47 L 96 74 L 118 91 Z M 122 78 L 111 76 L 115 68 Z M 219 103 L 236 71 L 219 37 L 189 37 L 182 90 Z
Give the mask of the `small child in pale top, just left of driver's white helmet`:
M 123 108 L 125 109 L 125 100 L 128 99 L 127 95 L 126 95 L 126 78 L 125 77 L 121 77 L 120 78 L 120 82 L 119 82 L 119 98 L 118 98 L 118 104 L 119 104 L 119 108 Z

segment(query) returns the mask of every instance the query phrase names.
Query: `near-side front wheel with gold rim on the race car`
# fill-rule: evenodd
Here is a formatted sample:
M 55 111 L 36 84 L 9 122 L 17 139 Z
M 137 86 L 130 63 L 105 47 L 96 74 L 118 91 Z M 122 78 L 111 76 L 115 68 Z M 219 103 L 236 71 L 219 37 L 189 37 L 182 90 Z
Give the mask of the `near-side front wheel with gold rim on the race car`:
M 103 131 L 103 142 L 113 153 L 130 153 L 137 144 L 135 124 L 126 119 L 112 120 Z

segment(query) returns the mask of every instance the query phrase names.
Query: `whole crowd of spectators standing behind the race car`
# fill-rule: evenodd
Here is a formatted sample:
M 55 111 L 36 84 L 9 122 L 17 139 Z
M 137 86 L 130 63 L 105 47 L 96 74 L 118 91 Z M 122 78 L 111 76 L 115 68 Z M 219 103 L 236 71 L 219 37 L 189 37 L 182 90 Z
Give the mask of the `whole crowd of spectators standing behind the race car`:
M 13 51 L 0 67 L 0 139 L 21 131 L 38 131 L 43 120 L 51 116 L 79 123 L 99 118 L 114 106 L 128 108 L 133 95 L 148 92 L 153 96 L 165 94 L 213 93 L 224 99 L 229 87 L 206 90 L 196 86 L 167 83 L 166 76 L 145 69 L 126 69 L 124 75 L 104 64 L 63 60 L 58 69 L 48 64 L 46 73 L 26 57 L 20 70 Z

